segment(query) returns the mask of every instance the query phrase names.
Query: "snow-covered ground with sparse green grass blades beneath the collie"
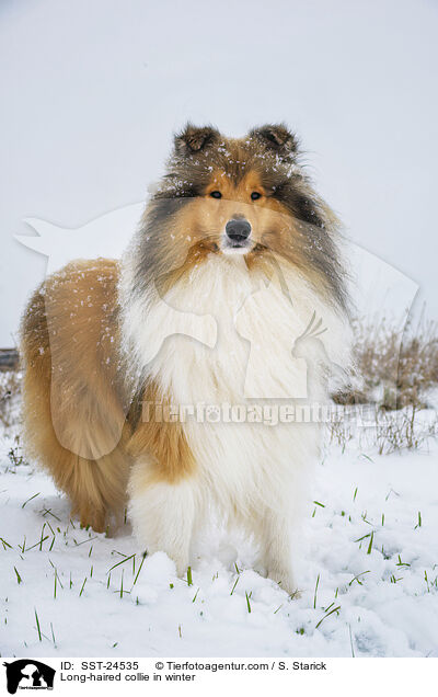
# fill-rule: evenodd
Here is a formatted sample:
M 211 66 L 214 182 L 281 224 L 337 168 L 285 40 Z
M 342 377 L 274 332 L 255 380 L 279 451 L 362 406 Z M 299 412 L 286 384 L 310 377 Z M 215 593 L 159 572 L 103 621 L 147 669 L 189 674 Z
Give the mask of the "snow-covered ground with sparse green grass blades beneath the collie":
M 80 529 L 16 433 L 0 452 L 1 655 L 438 656 L 434 441 L 327 446 L 291 599 L 239 537 L 206 532 L 189 585 L 165 555 L 142 561 L 128 523 L 113 538 Z

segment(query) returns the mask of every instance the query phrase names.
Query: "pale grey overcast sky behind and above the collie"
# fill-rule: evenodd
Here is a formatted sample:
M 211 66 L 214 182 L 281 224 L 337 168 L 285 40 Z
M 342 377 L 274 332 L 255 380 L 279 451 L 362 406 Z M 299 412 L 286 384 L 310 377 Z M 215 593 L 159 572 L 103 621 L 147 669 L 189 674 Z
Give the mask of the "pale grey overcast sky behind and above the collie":
M 143 199 L 188 118 L 286 121 L 351 240 L 437 318 L 437 35 L 433 0 L 1 0 L 0 346 L 45 273 L 23 219 Z

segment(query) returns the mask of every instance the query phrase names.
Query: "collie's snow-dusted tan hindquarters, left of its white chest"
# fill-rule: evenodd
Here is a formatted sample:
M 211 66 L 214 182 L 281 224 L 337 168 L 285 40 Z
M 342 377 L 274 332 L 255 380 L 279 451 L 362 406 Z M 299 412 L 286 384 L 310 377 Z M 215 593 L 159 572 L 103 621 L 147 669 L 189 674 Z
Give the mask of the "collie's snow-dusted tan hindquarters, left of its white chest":
M 108 514 L 123 513 L 129 467 L 115 355 L 117 278 L 116 262 L 71 263 L 36 290 L 22 323 L 27 453 L 68 494 L 72 514 L 97 532 Z

